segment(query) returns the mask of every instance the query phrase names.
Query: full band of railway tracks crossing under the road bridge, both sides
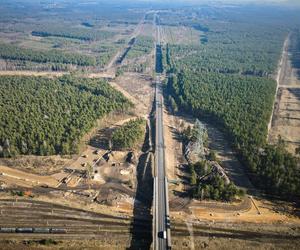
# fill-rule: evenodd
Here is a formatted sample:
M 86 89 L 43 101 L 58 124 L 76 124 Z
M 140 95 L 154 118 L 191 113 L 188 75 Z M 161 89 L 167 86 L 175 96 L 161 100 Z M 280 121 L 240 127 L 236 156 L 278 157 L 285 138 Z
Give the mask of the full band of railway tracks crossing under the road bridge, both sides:
M 93 239 L 105 241 L 107 238 L 128 240 L 132 237 L 133 218 L 131 217 L 89 212 L 40 201 L 19 200 L 16 202 L 14 199 L 0 200 L 0 212 L 0 240 L 55 239 L 68 241 Z M 134 219 L 134 230 L 138 232 L 135 232 L 135 236 L 145 238 L 149 235 L 149 229 L 144 226 L 146 221 L 147 219 Z M 264 239 L 267 241 L 300 240 L 300 227 L 298 231 L 294 231 L 294 235 L 289 229 L 286 230 L 286 233 L 279 234 L 268 228 L 257 231 L 257 228 L 251 229 L 250 226 L 246 230 L 244 227 L 240 227 L 234 223 L 224 227 L 217 223 L 195 222 L 193 223 L 193 233 L 194 237 L 230 237 L 232 239 Z M 15 231 L 11 233 L 1 232 L 1 228 L 13 228 Z M 30 230 L 27 230 L 26 233 L 22 230 L 17 232 L 17 228 L 32 229 L 32 232 Z M 34 228 L 46 229 L 49 230 L 49 233 L 33 232 Z M 61 231 L 55 232 L 51 229 Z M 184 222 L 173 221 L 171 230 L 172 237 L 189 236 Z

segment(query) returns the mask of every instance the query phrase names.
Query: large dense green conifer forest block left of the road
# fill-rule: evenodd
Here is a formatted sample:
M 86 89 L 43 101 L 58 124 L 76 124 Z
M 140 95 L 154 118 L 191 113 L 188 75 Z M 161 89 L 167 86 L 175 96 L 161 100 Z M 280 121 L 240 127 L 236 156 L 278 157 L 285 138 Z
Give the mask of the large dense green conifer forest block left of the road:
M 0 156 L 76 153 L 97 119 L 131 106 L 103 80 L 0 78 Z

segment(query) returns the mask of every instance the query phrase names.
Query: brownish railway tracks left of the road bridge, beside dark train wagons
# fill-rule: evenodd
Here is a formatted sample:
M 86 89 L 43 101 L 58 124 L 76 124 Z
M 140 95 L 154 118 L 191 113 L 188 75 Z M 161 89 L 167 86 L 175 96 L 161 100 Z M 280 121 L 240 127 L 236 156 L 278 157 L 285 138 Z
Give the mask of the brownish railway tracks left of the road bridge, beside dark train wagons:
M 145 221 L 135 219 L 134 222 L 135 229 L 138 229 L 141 235 L 147 233 L 144 229 Z M 12 230 L 5 231 L 5 228 Z M 45 233 L 34 232 L 37 228 L 44 229 Z M 23 233 L 22 229 L 27 230 Z M 130 217 L 94 213 L 40 201 L 0 200 L 0 238 L 6 238 L 10 234 L 30 238 L 44 237 L 46 234 L 49 237 L 64 239 L 70 235 L 102 238 L 105 232 L 129 237 L 131 230 Z

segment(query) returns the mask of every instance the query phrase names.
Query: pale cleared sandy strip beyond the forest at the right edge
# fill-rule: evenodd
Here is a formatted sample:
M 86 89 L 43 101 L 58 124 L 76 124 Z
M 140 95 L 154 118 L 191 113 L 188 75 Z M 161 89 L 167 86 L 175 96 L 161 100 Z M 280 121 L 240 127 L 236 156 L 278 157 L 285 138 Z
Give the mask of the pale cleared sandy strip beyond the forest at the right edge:
M 280 136 L 287 149 L 295 153 L 300 146 L 300 79 L 292 67 L 289 54 L 290 36 L 287 38 L 277 75 L 276 101 L 269 124 L 270 143 Z

